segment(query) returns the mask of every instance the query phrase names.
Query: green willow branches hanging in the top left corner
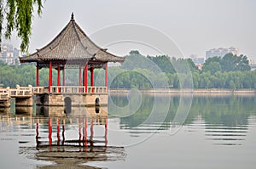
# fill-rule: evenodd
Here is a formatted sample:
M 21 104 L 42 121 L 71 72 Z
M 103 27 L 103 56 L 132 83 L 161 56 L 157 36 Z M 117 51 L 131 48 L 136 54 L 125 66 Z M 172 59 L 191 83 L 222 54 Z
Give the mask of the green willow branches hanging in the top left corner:
M 5 4 L 4 4 L 5 3 Z M 32 35 L 32 12 L 38 6 L 38 15 L 42 13 L 42 0 L 0 0 L 0 43 L 2 43 L 3 23 L 7 21 L 4 37 L 10 39 L 12 32 L 17 31 L 20 37 L 20 49 L 28 49 L 29 39 Z

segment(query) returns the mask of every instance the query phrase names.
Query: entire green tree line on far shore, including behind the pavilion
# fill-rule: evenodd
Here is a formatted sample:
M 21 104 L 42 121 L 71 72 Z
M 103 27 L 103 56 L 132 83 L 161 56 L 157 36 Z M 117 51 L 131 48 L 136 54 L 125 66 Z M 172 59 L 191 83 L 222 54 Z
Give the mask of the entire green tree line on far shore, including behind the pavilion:
M 6 65 L 0 62 L 0 84 L 4 87 L 15 87 L 16 84 L 35 86 L 35 72 L 35 65 Z M 79 85 L 78 69 L 67 69 L 65 76 L 67 85 Z M 96 69 L 95 76 L 96 86 L 104 86 L 104 70 Z M 48 85 L 48 77 L 48 69 L 40 70 L 40 86 Z M 186 81 L 189 77 L 193 80 L 191 86 L 195 88 L 256 88 L 256 71 L 251 71 L 244 55 L 226 54 L 223 58 L 209 58 L 199 70 L 191 59 L 176 59 L 166 55 L 145 57 L 137 50 L 131 51 L 122 65 L 108 68 L 108 87 L 181 88 L 181 78 Z M 57 85 L 56 70 L 53 70 L 53 79 L 53 85 Z M 90 85 L 90 81 L 88 83 Z

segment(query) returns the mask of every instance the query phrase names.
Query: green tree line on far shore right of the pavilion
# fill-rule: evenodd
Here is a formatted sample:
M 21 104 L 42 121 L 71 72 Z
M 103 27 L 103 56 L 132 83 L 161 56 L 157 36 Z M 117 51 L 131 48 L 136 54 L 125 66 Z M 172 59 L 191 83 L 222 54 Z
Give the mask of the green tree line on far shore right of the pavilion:
M 151 63 L 150 63 L 151 62 Z M 149 63 L 149 64 L 148 64 Z M 156 65 L 156 66 L 152 66 Z M 159 68 L 157 71 L 155 68 Z M 125 73 L 119 73 L 125 70 Z M 199 70 L 191 59 L 170 58 L 166 55 L 143 56 L 138 51 L 131 51 L 125 63 L 118 69 L 110 69 L 115 76 L 110 87 L 148 89 L 153 87 L 146 74 L 154 79 L 154 87 L 180 88 L 180 76 L 192 76 L 195 88 L 256 88 L 256 71 L 251 71 L 247 56 L 226 54 L 223 58 L 212 57 L 206 60 Z M 124 75 L 124 76 L 123 76 Z M 164 76 L 163 76 L 164 75 Z

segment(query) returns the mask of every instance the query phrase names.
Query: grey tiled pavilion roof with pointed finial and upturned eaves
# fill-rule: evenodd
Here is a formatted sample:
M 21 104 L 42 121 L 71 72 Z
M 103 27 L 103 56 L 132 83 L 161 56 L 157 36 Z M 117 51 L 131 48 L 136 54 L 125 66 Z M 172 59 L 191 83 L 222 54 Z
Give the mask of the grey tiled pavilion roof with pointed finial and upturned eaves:
M 73 19 L 64 29 L 44 48 L 37 49 L 37 52 L 26 57 L 20 57 L 20 63 L 38 62 L 44 65 L 49 61 L 62 61 L 78 64 L 81 61 L 92 63 L 124 62 L 125 57 L 109 54 L 107 49 L 98 47 L 84 33 Z

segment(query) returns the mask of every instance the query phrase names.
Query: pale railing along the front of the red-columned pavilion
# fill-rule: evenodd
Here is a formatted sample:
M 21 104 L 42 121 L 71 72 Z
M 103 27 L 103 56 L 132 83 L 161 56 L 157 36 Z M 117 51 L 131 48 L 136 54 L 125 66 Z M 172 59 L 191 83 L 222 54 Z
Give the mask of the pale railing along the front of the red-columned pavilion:
M 108 93 L 108 87 L 51 86 L 49 93 Z

